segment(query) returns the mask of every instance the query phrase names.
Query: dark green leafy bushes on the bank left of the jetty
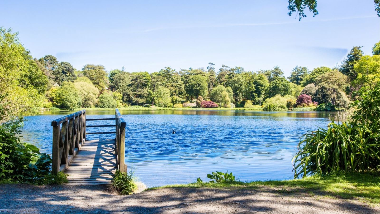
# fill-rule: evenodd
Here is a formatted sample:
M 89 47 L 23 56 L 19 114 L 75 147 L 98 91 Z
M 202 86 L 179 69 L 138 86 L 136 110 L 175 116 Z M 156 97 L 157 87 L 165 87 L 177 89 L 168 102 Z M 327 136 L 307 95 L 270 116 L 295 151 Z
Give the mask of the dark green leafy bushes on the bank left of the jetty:
M 0 125 L 0 179 L 38 182 L 49 174 L 52 160 L 32 144 L 21 143 L 22 119 Z

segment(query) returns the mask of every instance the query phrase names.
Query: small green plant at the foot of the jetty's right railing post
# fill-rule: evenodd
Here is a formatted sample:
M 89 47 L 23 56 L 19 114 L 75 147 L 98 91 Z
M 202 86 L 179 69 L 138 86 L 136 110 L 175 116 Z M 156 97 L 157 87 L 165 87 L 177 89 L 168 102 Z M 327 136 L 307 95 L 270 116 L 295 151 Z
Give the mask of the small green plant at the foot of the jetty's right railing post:
M 112 179 L 112 187 L 122 195 L 130 195 L 136 192 L 137 185 L 133 179 L 133 172 L 120 172 L 116 170 L 115 177 Z

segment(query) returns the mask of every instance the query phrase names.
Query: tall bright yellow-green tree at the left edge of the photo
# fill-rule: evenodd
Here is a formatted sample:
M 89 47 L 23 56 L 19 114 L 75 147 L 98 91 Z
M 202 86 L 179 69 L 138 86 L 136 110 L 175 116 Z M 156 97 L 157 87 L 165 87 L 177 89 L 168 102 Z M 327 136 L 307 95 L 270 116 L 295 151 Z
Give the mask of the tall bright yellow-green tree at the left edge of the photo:
M 30 87 L 31 84 L 22 85 L 19 82 L 24 78 L 29 81 L 28 75 L 25 77 L 24 74 L 30 69 L 30 59 L 32 57 L 19 42 L 17 33 L 0 27 L 0 124 L 28 114 L 33 107 L 42 103 L 43 97 L 37 89 Z

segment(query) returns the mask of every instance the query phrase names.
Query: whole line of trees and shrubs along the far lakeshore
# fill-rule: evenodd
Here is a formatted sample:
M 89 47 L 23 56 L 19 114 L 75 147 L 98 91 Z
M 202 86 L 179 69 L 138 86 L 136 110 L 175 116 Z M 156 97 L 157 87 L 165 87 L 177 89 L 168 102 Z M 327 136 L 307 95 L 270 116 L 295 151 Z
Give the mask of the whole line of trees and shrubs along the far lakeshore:
M 19 110 L 30 107 L 59 109 L 158 107 L 246 107 L 288 110 L 294 107 L 346 108 L 355 101 L 355 91 L 379 79 L 380 42 L 371 55 L 353 47 L 340 66 L 296 66 L 290 76 L 275 66 L 269 70 L 245 71 L 243 67 L 214 63 L 205 68 L 157 72 L 128 72 L 103 65 L 86 64 L 81 70 L 69 62 L 46 55 L 33 58 L 19 42 L 17 33 L 1 28 L 2 102 L 19 99 Z M 16 95 L 12 95 L 16 94 Z M 301 94 L 306 94 L 300 97 Z M 32 97 L 32 99 L 30 99 Z M 21 99 L 20 99 L 21 98 Z M 216 105 L 203 105 L 212 101 Z

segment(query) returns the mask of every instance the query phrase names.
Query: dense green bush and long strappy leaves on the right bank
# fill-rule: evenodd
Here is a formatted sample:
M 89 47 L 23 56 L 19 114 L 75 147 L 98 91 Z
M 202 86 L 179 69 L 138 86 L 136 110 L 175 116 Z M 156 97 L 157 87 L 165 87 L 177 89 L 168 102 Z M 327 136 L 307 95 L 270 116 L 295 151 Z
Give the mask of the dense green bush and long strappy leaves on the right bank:
M 362 89 L 361 100 L 347 121 L 332 121 L 302 136 L 299 152 L 293 158 L 294 177 L 337 171 L 366 172 L 380 167 L 380 84 Z

